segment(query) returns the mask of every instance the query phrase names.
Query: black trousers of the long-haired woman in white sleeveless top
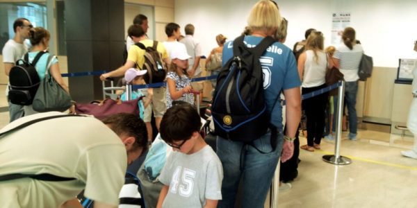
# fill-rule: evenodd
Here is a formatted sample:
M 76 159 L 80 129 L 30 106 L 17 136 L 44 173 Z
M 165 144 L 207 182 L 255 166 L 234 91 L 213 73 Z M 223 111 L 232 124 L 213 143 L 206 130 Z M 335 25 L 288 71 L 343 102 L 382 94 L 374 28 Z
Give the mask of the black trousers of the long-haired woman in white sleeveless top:
M 326 85 L 318 87 L 302 87 L 302 94 L 322 89 Z M 307 117 L 307 145 L 320 144 L 325 130 L 325 110 L 327 105 L 327 98 L 329 94 L 326 92 L 312 98 L 307 98 L 302 101 Z

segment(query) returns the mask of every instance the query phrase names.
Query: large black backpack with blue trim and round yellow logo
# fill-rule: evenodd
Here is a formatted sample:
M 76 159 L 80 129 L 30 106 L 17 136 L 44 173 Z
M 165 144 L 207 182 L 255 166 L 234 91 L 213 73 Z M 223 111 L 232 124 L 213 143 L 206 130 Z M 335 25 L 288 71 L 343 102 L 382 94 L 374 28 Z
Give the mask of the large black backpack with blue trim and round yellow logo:
M 248 48 L 244 37 L 234 40 L 234 57 L 218 75 L 211 112 L 216 135 L 250 142 L 265 135 L 270 123 L 259 58 L 275 40 L 265 37 L 256 47 Z

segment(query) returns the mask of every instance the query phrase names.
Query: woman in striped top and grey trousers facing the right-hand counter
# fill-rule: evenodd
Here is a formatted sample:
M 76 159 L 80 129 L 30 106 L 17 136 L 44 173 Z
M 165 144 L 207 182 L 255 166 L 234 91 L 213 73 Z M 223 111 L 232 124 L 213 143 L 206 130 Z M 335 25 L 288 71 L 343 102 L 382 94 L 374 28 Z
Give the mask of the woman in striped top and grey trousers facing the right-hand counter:
M 349 139 L 357 139 L 357 112 L 356 101 L 358 93 L 358 70 L 361 62 L 363 49 L 361 44 L 357 44 L 356 32 L 354 28 L 347 27 L 342 34 L 343 44 L 336 48 L 333 55 L 335 67 L 341 70 L 345 78 L 345 102 L 349 118 Z M 337 96 L 334 96 L 334 116 L 333 123 L 336 123 L 336 106 Z M 333 125 L 332 131 L 336 131 L 336 125 Z M 329 137 L 332 139 L 332 137 Z

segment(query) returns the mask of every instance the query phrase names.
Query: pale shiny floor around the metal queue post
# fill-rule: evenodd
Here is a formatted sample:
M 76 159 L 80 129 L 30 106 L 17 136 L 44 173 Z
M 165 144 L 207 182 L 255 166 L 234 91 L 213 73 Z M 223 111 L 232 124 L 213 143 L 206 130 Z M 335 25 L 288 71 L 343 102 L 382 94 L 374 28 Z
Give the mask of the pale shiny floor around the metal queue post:
M 279 207 L 417 207 L 417 159 L 402 157 L 403 148 L 372 144 L 361 137 L 366 133 L 359 132 L 358 141 L 342 140 L 349 165 L 322 161 L 334 155 L 334 144 L 325 141 L 322 150 L 300 150 L 299 175 L 292 189 L 279 193 Z

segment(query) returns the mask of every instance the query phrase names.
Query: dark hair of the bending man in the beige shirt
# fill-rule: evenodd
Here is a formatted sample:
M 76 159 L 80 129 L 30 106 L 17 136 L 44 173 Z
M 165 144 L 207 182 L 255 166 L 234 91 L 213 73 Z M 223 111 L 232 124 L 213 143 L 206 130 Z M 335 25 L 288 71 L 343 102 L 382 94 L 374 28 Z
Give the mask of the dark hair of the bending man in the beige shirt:
M 138 115 L 119 113 L 103 119 L 103 123 L 109 125 L 116 135 L 127 135 L 135 137 L 134 148 L 142 147 L 143 151 L 147 150 L 147 129 L 145 122 Z

